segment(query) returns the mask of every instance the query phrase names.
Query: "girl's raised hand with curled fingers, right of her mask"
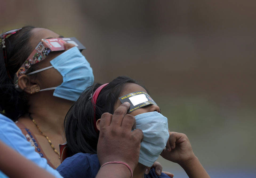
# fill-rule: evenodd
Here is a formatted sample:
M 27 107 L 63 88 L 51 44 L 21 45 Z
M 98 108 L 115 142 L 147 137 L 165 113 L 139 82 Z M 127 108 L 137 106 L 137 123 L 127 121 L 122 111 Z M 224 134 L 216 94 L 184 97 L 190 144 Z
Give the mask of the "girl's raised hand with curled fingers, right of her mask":
M 160 154 L 163 158 L 178 164 L 186 164 L 195 158 L 189 139 L 184 133 L 170 132 L 166 148 Z

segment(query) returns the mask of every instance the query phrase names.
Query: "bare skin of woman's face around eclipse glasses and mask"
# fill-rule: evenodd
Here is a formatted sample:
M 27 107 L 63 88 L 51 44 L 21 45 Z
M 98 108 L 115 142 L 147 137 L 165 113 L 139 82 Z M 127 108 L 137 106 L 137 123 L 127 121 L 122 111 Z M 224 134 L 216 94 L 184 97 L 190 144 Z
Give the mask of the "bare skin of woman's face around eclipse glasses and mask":
M 59 34 L 45 28 L 33 28 L 31 30 L 32 36 L 30 38 L 30 45 L 32 49 L 34 49 L 40 40 L 45 38 L 59 38 L 62 36 L 59 36 Z M 66 50 L 70 49 L 71 47 L 74 47 L 73 44 L 64 44 L 66 47 Z M 42 61 L 35 64 L 33 67 L 36 68 L 36 70 L 39 70 L 41 68 L 45 68 L 48 66 L 51 66 L 50 61 L 57 57 L 58 55 L 62 54 L 64 51 L 53 51 L 49 53 L 49 55 Z M 55 69 L 50 68 L 48 70 L 38 72 L 37 77 L 35 80 L 37 80 L 37 83 L 40 86 L 40 89 L 50 88 L 59 86 L 63 82 L 62 75 Z M 54 90 L 53 90 L 54 91 Z

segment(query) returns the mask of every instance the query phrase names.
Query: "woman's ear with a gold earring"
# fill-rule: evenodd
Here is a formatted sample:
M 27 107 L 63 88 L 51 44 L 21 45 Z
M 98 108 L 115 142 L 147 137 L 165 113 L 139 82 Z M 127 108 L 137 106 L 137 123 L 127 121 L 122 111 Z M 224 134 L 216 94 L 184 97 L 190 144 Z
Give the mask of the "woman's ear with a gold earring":
M 18 85 L 20 89 L 29 94 L 37 93 L 40 90 L 40 86 L 32 83 L 30 77 L 27 75 L 21 75 L 18 78 Z

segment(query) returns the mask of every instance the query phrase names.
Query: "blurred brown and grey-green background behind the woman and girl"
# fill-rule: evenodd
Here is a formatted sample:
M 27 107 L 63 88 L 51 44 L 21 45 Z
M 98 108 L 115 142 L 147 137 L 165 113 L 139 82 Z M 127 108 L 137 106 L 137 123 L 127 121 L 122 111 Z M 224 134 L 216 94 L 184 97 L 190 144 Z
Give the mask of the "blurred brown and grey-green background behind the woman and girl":
M 77 37 L 95 81 L 142 81 L 211 177 L 255 177 L 255 1 L 1 0 L 0 30 Z M 158 159 L 164 171 L 187 177 Z

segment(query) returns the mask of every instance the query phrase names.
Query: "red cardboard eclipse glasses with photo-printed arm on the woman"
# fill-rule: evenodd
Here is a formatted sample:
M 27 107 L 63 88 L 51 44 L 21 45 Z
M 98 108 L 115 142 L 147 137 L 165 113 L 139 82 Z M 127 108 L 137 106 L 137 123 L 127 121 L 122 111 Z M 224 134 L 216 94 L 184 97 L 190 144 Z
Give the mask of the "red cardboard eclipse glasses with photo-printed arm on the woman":
M 71 43 L 77 46 L 82 51 L 86 49 L 75 37 L 70 38 L 49 38 L 39 41 L 35 49 L 21 65 L 19 70 L 14 75 L 14 85 L 16 89 L 19 89 L 18 78 L 25 74 L 27 70 L 34 64 L 44 60 L 51 51 L 63 51 L 65 50 L 64 44 Z

